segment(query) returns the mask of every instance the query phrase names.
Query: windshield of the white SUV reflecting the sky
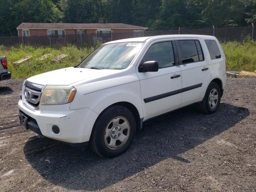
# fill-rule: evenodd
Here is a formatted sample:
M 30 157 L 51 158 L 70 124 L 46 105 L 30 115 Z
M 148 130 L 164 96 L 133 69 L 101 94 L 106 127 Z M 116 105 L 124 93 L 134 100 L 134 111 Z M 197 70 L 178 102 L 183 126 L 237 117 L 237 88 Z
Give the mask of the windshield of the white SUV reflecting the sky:
M 94 50 L 79 65 L 80 68 L 125 69 L 141 49 L 143 42 L 105 44 Z

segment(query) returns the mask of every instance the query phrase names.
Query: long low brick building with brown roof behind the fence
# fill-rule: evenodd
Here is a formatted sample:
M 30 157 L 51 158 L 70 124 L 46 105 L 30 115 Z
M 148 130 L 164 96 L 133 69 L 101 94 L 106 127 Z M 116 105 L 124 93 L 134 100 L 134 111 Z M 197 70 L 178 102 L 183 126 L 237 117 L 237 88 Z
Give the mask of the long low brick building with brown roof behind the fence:
M 65 35 L 94 34 L 95 37 L 111 38 L 112 33 L 129 33 L 134 37 L 141 36 L 146 27 L 123 23 L 21 23 L 18 27 L 18 36 L 52 36 L 65 38 Z

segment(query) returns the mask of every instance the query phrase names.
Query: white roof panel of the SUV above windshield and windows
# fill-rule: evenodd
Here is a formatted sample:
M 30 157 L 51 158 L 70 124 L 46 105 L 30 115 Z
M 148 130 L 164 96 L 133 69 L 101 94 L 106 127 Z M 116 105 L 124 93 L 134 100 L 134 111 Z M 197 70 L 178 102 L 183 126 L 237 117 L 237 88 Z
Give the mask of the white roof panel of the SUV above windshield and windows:
M 208 36 L 208 35 L 158 35 L 158 36 L 146 36 L 146 37 L 120 39 L 120 40 L 106 42 L 105 44 L 121 43 L 121 42 L 145 42 L 145 41 L 152 41 L 152 40 L 166 39 L 166 38 L 200 38 L 200 39 L 216 40 L 216 37 Z

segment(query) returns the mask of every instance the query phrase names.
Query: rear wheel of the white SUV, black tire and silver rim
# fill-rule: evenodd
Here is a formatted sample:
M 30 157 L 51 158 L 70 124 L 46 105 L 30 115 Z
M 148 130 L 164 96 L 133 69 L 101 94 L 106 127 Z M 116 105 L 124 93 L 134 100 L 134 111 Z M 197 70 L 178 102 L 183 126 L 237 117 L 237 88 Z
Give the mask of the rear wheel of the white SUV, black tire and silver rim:
M 216 82 L 211 82 L 205 92 L 204 99 L 198 105 L 198 109 L 205 114 L 214 113 L 220 105 L 220 98 L 220 86 Z

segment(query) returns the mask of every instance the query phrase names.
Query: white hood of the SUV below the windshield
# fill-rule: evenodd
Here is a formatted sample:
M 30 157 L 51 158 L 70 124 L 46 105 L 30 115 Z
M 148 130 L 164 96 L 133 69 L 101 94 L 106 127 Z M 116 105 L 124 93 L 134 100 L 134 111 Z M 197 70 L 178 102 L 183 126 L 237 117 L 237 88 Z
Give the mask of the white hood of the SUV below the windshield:
M 68 67 L 35 75 L 28 78 L 27 80 L 29 82 L 40 85 L 70 85 L 82 80 L 102 78 L 104 76 L 115 74 L 117 71 L 118 70 L 97 70 Z

